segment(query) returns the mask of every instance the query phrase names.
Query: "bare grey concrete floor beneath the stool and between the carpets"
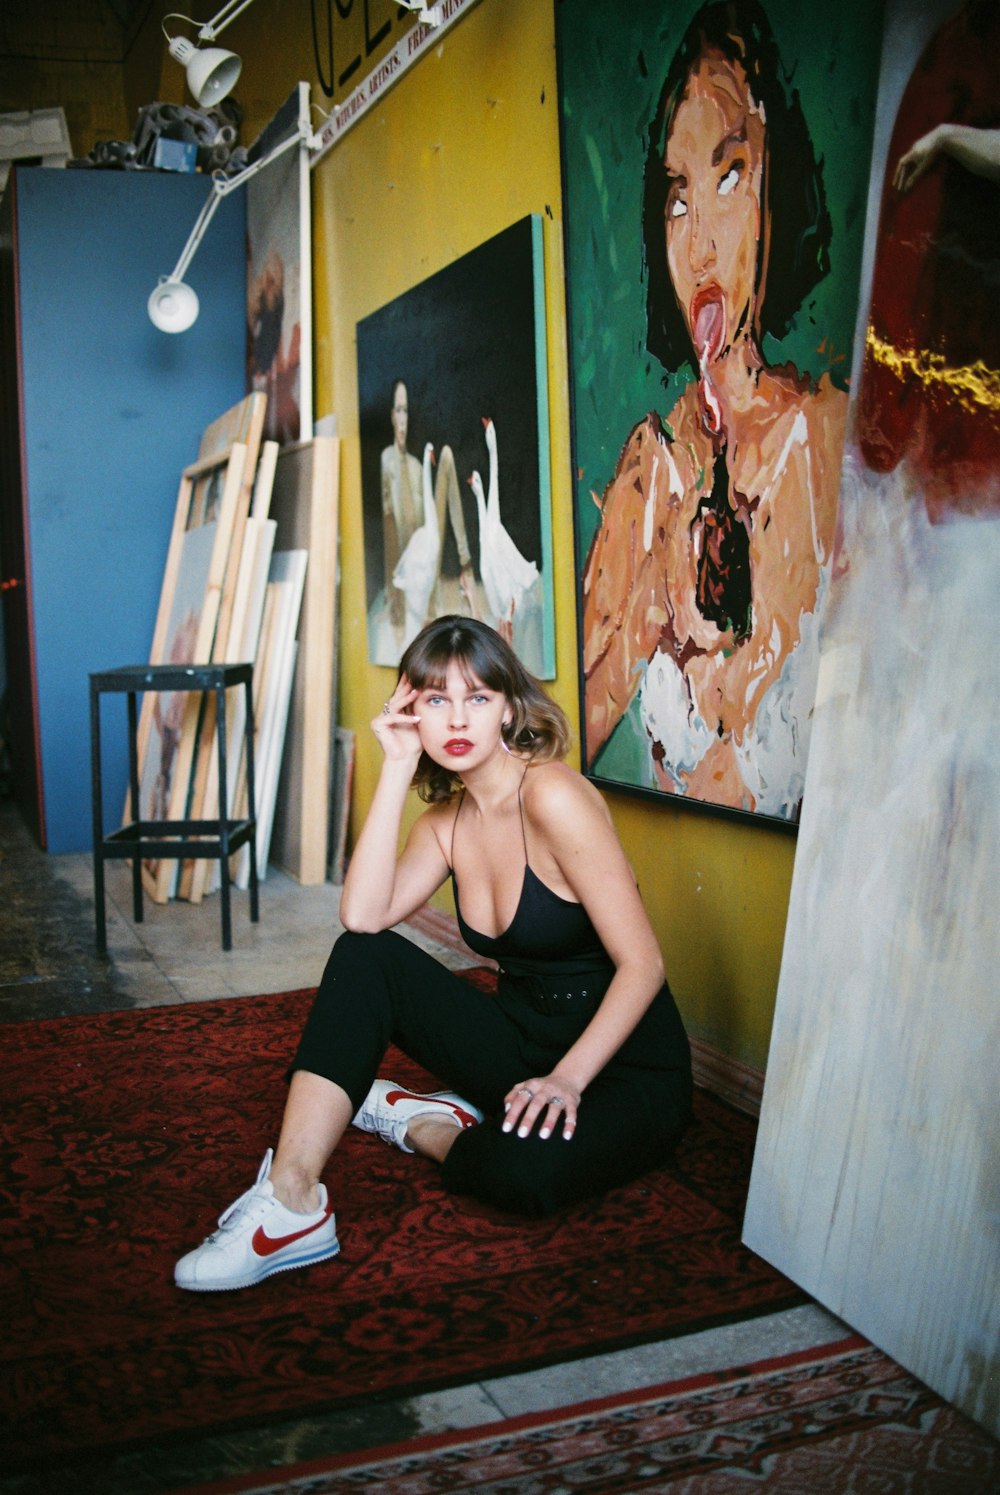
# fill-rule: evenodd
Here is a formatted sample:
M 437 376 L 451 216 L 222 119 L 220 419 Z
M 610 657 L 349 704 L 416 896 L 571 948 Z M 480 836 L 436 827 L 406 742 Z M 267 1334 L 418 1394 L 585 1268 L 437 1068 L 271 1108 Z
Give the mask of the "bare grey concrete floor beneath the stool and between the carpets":
M 0 1023 L 124 1008 L 200 1002 L 312 987 L 341 930 L 339 890 L 302 888 L 271 869 L 260 891 L 260 922 L 247 896 L 233 894 L 233 949 L 224 954 L 218 896 L 200 906 L 145 903 L 132 919 L 127 864 L 109 864 L 108 951 L 94 952 L 93 869 L 88 855 L 48 857 L 9 801 L 0 801 Z M 459 969 L 475 957 L 447 927 L 402 927 Z M 436 934 L 438 937 L 433 937 Z M 265 1139 L 266 1142 L 266 1139 Z M 233 1181 L 233 1196 L 244 1183 Z M 229 1200 L 220 1199 L 220 1209 Z M 178 1251 L 196 1242 L 178 1242 Z M 278 1468 L 327 1453 L 372 1449 L 417 1434 L 471 1428 L 546 1411 L 613 1392 L 825 1344 L 849 1332 L 816 1305 L 662 1344 L 571 1360 L 417 1398 L 353 1407 L 182 1446 L 124 1453 L 99 1465 L 0 1476 L 3 1495 L 157 1495 L 241 1471 Z

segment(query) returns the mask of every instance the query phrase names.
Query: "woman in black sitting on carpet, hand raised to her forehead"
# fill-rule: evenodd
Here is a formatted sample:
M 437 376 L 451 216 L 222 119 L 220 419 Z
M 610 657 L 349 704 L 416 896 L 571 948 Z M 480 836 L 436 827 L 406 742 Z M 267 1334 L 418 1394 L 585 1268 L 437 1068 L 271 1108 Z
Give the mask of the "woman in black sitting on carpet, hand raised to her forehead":
M 444 1187 L 544 1215 L 667 1159 L 691 1052 L 598 791 L 561 761 L 564 713 L 492 628 L 439 617 L 372 722 L 384 761 L 342 934 L 291 1066 L 278 1148 L 179 1287 L 250 1287 L 339 1250 L 320 1181 L 351 1124 L 441 1165 Z M 429 801 L 398 855 L 411 785 Z M 477 991 L 392 931 L 451 876 Z M 495 933 L 487 933 L 495 931 Z M 453 1087 L 377 1079 L 390 1044 Z

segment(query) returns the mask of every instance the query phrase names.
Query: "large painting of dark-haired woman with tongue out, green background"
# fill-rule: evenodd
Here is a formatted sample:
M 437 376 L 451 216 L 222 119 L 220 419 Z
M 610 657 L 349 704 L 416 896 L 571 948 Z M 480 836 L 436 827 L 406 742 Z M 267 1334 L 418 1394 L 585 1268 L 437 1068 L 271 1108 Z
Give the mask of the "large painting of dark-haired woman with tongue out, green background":
M 577 0 L 556 19 L 584 765 L 791 824 L 879 6 Z

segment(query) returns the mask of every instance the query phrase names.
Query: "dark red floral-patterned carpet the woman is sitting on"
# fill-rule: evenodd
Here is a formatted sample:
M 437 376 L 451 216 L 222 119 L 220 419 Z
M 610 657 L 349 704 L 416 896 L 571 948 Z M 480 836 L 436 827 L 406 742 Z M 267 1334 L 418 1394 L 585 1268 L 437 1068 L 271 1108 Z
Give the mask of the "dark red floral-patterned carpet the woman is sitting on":
M 250 1187 L 277 1135 L 309 1002 L 6 1026 L 7 1468 L 416 1395 L 804 1301 L 740 1244 L 755 1123 L 706 1093 L 671 1165 L 541 1221 L 450 1197 L 432 1163 L 350 1130 L 327 1172 L 338 1257 L 248 1292 L 179 1292 L 175 1259 Z M 432 1085 L 398 1054 L 384 1072 Z

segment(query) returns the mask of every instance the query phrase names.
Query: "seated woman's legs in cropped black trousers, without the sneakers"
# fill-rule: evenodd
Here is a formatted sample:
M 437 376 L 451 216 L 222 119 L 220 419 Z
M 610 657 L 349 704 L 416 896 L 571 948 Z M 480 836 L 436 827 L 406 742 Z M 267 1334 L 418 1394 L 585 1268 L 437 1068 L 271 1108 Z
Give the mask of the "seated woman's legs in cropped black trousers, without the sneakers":
M 575 1033 L 574 1020 L 477 991 L 399 934 L 345 934 L 296 1054 L 272 1175 L 302 1203 L 315 1197 L 330 1153 L 395 1042 L 490 1112 L 469 1130 L 436 1117 L 413 1123 L 408 1145 L 444 1165 L 447 1189 L 541 1215 L 635 1178 L 670 1156 L 691 1108 L 688 1044 L 670 993 L 622 1052 L 670 1054 L 665 1061 L 676 1069 L 613 1061 L 587 1088 L 571 1142 L 558 1132 L 541 1141 L 502 1130 L 508 1088 L 546 1073 Z

